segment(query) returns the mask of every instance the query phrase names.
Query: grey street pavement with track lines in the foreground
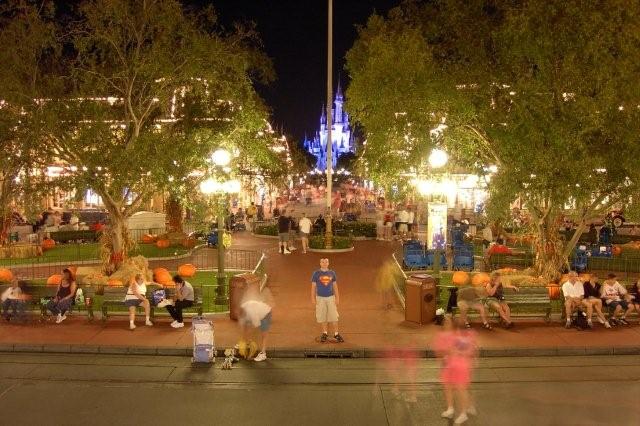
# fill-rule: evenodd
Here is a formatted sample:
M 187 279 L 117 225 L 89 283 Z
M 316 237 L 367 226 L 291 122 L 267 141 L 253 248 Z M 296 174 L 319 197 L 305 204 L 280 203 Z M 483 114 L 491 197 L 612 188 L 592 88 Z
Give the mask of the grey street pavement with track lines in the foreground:
M 637 425 L 636 356 L 484 358 L 469 425 Z M 446 425 L 438 362 L 0 354 L 0 413 L 21 425 Z M 411 382 L 414 381 L 412 384 Z M 394 382 L 398 382 L 394 384 Z M 411 399 L 415 389 L 417 402 Z M 11 422 L 9 422 L 11 420 Z

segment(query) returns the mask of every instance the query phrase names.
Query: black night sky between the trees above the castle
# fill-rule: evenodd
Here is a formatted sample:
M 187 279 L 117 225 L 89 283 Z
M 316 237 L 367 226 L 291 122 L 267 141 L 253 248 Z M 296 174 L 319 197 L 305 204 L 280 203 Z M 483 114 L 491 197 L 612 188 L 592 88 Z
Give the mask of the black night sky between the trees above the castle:
M 347 85 L 344 55 L 356 38 L 357 24 L 377 11 L 385 14 L 400 0 L 334 0 L 334 80 Z M 325 102 L 327 57 L 326 0 L 186 0 L 213 3 L 223 25 L 257 24 L 277 80 L 258 88 L 272 108 L 272 124 L 300 142 L 319 127 Z

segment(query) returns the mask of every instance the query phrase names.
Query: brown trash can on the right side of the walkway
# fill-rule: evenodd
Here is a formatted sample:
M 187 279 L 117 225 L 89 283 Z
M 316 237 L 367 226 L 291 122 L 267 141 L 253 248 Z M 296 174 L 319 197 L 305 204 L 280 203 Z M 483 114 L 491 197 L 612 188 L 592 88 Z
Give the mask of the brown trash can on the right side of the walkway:
M 406 281 L 404 318 L 417 324 L 428 324 L 436 317 L 436 280 L 427 274 L 414 274 Z

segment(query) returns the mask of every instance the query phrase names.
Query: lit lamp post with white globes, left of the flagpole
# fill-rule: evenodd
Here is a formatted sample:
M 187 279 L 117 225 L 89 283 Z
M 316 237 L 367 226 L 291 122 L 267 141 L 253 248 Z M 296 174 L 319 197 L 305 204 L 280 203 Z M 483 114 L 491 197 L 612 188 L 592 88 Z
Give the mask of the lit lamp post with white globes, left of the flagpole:
M 224 149 L 218 149 L 211 156 L 213 164 L 216 166 L 216 172 L 220 176 L 225 176 L 224 168 L 231 162 L 231 154 Z M 226 177 L 226 176 L 225 176 Z M 236 194 L 240 192 L 240 182 L 235 179 L 216 180 L 209 178 L 200 184 L 200 192 L 204 195 L 216 196 L 216 210 L 217 210 L 217 222 L 218 222 L 218 276 L 216 288 L 216 300 L 217 305 L 224 305 L 227 302 L 226 296 L 226 275 L 224 272 L 224 207 L 229 194 Z

